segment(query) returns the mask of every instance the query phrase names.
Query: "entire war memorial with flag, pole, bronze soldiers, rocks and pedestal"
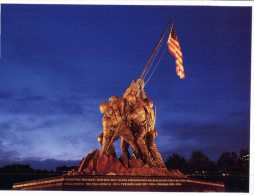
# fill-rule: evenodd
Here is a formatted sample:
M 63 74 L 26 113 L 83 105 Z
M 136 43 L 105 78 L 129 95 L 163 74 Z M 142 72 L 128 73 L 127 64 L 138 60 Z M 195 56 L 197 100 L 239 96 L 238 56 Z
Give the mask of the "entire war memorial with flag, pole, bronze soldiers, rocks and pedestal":
M 193 180 L 179 170 L 169 171 L 155 143 L 156 110 L 145 85 L 156 70 L 166 45 L 175 57 L 176 73 L 185 78 L 182 52 L 174 25 L 163 44 L 171 19 L 154 48 L 141 76 L 132 81 L 122 96 L 111 96 L 100 104 L 103 130 L 98 136 L 102 149 L 84 157 L 79 166 L 59 177 L 15 183 L 16 190 L 95 190 L 95 191 L 224 191 L 221 183 Z M 148 72 L 161 46 L 165 49 L 153 70 Z M 145 80 L 145 77 L 148 79 Z M 120 158 L 114 142 L 121 139 Z M 130 150 L 130 149 L 131 150 Z M 129 151 L 132 151 L 131 153 Z

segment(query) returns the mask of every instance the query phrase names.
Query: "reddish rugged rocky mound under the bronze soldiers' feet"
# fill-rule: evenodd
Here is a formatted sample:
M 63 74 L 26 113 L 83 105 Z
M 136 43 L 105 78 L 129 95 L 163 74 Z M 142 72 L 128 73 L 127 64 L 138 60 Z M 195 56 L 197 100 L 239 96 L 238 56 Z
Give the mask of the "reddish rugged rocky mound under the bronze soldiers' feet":
M 136 158 L 120 158 L 101 155 L 95 149 L 80 162 L 76 170 L 67 175 L 127 175 L 127 176 L 171 176 L 185 178 L 179 170 L 168 171 L 166 168 L 150 167 Z

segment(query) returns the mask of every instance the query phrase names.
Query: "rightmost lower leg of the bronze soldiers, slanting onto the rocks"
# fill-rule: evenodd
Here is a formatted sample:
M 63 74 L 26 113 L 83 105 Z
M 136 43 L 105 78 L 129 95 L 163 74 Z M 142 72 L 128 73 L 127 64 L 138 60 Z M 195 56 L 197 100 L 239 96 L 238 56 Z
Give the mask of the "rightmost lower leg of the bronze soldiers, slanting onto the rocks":
M 155 164 L 157 165 L 157 167 L 166 168 L 166 166 L 163 162 L 163 159 L 161 157 L 161 154 L 155 144 L 154 138 L 155 138 L 155 135 L 152 132 L 147 133 L 146 142 L 147 142 L 148 148 L 150 150 L 151 157 L 152 157 L 153 161 L 155 162 Z

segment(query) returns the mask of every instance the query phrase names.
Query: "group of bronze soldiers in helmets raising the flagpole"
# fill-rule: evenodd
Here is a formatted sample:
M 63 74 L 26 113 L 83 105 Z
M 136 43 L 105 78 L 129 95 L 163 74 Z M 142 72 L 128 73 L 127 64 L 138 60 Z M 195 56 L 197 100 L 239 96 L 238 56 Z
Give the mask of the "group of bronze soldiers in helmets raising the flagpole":
M 132 81 L 122 97 L 112 96 L 100 104 L 103 113 L 103 132 L 98 136 L 102 154 L 116 156 L 114 141 L 121 137 L 123 156 L 130 158 L 129 146 L 134 157 L 150 166 L 165 168 L 155 144 L 155 111 L 153 102 L 144 90 L 144 81 Z

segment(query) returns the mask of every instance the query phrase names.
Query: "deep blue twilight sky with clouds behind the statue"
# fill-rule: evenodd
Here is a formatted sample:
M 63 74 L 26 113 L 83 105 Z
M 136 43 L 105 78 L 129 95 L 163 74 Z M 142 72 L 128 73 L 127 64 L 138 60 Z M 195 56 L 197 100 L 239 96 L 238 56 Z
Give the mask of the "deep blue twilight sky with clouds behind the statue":
M 146 87 L 163 157 L 202 150 L 216 159 L 249 147 L 251 7 L 4 4 L 1 11 L 0 161 L 80 160 L 100 147 L 100 102 L 139 77 L 170 16 L 186 79 L 166 51 Z

